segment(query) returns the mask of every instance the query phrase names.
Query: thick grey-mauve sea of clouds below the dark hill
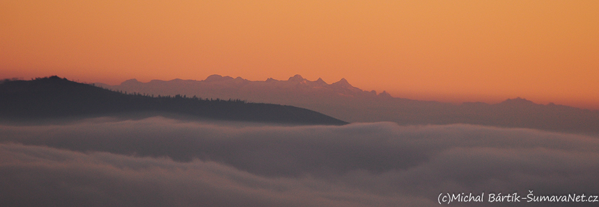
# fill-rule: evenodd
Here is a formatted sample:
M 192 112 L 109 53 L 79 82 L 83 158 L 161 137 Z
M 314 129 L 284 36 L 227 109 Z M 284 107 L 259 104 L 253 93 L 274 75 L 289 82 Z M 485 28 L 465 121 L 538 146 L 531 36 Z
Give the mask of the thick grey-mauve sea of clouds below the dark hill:
M 151 117 L 0 125 L 1 206 L 597 206 L 599 138 L 465 124 L 272 126 Z

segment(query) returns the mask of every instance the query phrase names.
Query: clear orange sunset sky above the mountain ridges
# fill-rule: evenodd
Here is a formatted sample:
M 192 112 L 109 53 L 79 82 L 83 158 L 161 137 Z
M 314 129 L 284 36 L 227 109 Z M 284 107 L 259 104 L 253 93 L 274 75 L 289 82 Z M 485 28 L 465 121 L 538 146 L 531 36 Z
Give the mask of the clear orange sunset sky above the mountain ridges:
M 0 1 L 0 78 L 346 78 L 599 109 L 599 1 Z

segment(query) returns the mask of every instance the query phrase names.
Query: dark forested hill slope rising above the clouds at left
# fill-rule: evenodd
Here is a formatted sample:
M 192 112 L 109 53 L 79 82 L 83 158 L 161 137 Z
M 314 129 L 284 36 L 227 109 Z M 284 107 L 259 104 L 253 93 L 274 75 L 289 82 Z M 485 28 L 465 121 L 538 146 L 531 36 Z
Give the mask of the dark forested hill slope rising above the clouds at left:
M 119 113 L 175 113 L 194 117 L 283 124 L 347 124 L 339 119 L 294 106 L 255 104 L 240 100 L 150 97 L 123 94 L 52 76 L 32 81 L 0 83 L 0 117 L 29 120 L 97 117 Z

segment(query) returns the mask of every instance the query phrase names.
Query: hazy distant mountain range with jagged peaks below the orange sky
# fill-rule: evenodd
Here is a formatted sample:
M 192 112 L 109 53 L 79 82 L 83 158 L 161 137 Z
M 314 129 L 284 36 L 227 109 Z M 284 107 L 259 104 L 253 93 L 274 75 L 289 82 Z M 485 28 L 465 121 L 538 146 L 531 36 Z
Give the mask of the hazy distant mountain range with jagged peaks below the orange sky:
M 268 78 L 249 81 L 231 76 L 208 76 L 203 81 L 174 79 L 120 85 L 95 83 L 110 90 L 145 94 L 185 94 L 212 99 L 242 99 L 316 110 L 346 122 L 397 122 L 398 124 L 480 124 L 568 133 L 599 133 L 599 111 L 556 104 L 535 104 L 526 99 L 507 99 L 499 104 L 467 102 L 461 105 L 391 97 L 387 92 L 364 91 L 345 79 L 325 83 L 295 75 L 287 81 Z

